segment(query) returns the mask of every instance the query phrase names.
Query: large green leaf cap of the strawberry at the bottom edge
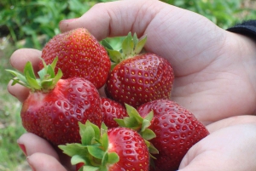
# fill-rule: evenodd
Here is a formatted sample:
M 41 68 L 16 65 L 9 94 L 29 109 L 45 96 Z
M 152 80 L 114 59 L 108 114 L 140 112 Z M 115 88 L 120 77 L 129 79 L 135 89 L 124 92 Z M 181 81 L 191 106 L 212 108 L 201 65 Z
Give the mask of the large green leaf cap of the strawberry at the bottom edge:
M 102 123 L 101 128 L 90 123 L 79 123 L 79 134 L 81 144 L 73 143 L 59 145 L 58 147 L 71 158 L 73 165 L 84 163 L 79 168 L 91 171 L 108 171 L 108 166 L 119 162 L 119 156 L 116 152 L 108 152 L 108 128 Z

